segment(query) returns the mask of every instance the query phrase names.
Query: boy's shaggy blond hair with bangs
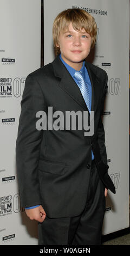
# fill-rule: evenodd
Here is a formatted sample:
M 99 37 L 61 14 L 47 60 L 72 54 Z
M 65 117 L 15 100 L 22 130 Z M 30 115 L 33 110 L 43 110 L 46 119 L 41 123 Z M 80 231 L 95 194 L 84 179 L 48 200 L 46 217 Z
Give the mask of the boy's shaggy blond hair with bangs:
M 60 48 L 57 47 L 60 33 L 67 31 L 68 26 L 72 22 L 72 26 L 76 31 L 85 31 L 92 37 L 91 48 L 94 47 L 96 42 L 97 26 L 95 19 L 87 11 L 74 8 L 62 11 L 54 20 L 53 23 L 53 42 L 55 53 L 60 54 Z

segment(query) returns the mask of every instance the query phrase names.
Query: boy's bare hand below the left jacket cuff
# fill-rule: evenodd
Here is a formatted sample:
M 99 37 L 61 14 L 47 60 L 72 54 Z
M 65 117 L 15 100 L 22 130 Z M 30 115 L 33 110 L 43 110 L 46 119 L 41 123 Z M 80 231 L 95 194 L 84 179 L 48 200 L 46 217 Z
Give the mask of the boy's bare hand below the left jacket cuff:
M 33 209 L 29 209 L 29 210 L 25 209 L 25 213 L 30 218 L 30 220 L 35 220 L 35 221 L 38 221 L 41 223 L 46 218 L 46 212 L 42 208 L 42 205 L 37 206 L 36 208 L 33 208 Z

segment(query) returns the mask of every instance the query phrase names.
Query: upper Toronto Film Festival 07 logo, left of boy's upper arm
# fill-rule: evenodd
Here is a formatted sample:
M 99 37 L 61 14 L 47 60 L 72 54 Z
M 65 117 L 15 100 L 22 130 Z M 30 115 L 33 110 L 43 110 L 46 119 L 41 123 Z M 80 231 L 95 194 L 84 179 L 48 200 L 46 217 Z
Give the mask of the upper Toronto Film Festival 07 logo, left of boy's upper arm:
M 22 94 L 25 78 L 0 77 L 0 97 L 19 97 Z

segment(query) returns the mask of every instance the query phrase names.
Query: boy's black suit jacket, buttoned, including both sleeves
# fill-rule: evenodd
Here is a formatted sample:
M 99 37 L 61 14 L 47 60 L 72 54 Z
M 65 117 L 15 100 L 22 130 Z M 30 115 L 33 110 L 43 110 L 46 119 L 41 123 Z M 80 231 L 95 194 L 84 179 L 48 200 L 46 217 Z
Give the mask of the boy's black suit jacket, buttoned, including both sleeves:
M 25 81 L 16 141 L 16 164 L 22 207 L 42 204 L 48 217 L 81 214 L 85 208 L 93 150 L 100 179 L 113 193 L 107 173 L 105 132 L 101 113 L 106 95 L 107 74 L 85 63 L 92 83 L 94 135 L 84 130 L 36 129 L 36 113 L 88 111 L 79 87 L 59 56 Z M 55 119 L 55 118 L 54 118 Z M 64 124 L 65 125 L 65 124 Z

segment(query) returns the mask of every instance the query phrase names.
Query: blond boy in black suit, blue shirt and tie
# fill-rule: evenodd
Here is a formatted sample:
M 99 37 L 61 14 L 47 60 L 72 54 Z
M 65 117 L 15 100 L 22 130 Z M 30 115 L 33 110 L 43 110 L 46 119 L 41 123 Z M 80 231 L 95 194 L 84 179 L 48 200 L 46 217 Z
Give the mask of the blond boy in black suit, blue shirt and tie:
M 38 221 L 39 245 L 100 245 L 108 188 L 115 193 L 107 173 L 101 120 L 107 74 L 85 61 L 96 33 L 95 20 L 86 11 L 62 11 L 53 24 L 57 57 L 25 81 L 17 174 L 22 207 L 31 220 Z M 47 129 L 37 129 L 42 113 L 49 120 L 54 114 L 55 121 L 57 113 L 64 118 L 68 111 L 72 119 L 77 111 L 88 113 L 89 124 L 93 111 L 93 135 L 85 136 L 84 127 L 78 129 L 77 123 L 76 129 L 66 129 L 68 119 L 61 129 L 50 129 L 51 121 Z

